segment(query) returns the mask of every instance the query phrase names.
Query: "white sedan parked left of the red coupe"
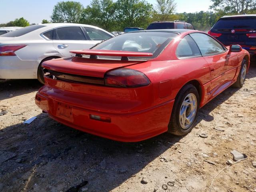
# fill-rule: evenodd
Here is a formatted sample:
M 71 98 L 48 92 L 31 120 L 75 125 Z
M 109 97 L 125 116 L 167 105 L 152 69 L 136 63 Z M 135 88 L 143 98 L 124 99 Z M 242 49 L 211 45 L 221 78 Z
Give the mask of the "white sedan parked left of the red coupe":
M 38 79 L 44 83 L 41 64 L 70 57 L 70 50 L 89 49 L 114 35 L 84 24 L 38 24 L 0 36 L 0 79 Z

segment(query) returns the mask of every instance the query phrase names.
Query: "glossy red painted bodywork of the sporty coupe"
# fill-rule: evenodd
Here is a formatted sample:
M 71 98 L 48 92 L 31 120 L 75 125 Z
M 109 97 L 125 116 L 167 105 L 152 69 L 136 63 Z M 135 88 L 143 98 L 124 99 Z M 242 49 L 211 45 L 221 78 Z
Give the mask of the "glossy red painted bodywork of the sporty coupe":
M 46 84 L 38 91 L 36 104 L 63 124 L 113 140 L 134 142 L 165 132 L 175 97 L 182 86 L 189 82 L 199 85 L 202 107 L 232 85 L 239 74 L 242 59 L 245 56 L 250 59 L 246 50 L 177 58 L 178 43 L 192 32 L 196 31 L 178 35 L 159 56 L 148 61 L 72 57 L 44 62 L 42 66 L 50 70 L 100 78 L 110 70 L 125 67 L 144 73 L 150 84 L 118 88 L 45 77 Z M 90 118 L 90 115 L 111 120 L 102 122 Z

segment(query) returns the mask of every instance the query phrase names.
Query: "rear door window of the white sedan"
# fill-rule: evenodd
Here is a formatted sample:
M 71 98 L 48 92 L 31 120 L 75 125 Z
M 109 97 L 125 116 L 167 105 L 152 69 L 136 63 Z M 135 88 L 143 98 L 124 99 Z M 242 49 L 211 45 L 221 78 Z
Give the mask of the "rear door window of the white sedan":
M 80 27 L 62 27 L 55 31 L 56 40 L 86 40 Z

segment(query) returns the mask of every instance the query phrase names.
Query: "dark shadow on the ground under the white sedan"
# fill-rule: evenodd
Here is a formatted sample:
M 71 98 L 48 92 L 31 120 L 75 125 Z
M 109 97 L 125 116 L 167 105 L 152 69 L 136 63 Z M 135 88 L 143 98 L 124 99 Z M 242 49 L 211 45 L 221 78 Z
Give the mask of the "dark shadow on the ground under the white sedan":
M 37 91 L 41 86 L 36 79 L 0 80 L 0 100 L 8 98 L 10 94 L 20 96 Z

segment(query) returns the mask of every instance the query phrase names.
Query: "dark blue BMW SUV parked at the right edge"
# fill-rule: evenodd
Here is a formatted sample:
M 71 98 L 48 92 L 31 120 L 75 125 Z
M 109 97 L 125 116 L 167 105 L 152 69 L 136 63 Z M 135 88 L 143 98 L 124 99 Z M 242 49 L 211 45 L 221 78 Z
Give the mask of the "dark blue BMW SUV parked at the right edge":
M 256 14 L 220 18 L 208 32 L 225 46 L 239 44 L 256 60 Z

